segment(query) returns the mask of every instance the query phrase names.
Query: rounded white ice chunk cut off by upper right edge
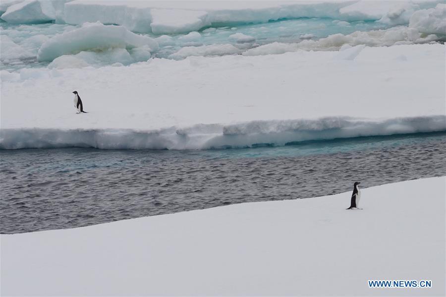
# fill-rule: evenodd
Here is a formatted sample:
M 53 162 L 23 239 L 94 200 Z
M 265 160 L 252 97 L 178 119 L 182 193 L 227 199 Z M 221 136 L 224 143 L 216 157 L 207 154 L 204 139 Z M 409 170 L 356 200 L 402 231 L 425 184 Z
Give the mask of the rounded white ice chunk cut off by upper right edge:
M 409 27 L 423 33 L 446 35 L 446 4 L 437 4 L 435 8 L 414 12 L 409 20 Z

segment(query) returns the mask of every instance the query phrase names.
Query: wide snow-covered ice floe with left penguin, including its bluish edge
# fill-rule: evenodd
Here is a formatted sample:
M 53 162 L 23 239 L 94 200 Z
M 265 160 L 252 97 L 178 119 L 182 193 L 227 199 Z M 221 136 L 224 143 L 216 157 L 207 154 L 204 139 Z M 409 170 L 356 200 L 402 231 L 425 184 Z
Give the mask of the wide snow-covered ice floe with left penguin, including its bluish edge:
M 445 76 L 442 44 L 1 71 L 0 147 L 207 149 L 440 131 Z M 74 90 L 88 114 L 75 114 Z

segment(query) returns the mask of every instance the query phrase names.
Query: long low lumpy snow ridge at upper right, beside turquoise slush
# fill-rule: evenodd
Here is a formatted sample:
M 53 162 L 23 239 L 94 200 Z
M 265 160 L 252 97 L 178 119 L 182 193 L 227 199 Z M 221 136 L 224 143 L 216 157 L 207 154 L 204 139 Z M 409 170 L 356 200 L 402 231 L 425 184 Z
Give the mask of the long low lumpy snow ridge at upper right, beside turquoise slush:
M 423 36 L 415 28 L 394 27 L 387 30 L 356 31 L 348 35 L 341 33 L 330 35 L 319 40 L 302 40 L 300 43 L 274 42 L 249 49 L 244 56 L 273 55 L 286 52 L 305 51 L 337 51 L 344 45 L 369 47 L 392 46 L 402 44 L 423 44 L 439 40 L 435 34 Z

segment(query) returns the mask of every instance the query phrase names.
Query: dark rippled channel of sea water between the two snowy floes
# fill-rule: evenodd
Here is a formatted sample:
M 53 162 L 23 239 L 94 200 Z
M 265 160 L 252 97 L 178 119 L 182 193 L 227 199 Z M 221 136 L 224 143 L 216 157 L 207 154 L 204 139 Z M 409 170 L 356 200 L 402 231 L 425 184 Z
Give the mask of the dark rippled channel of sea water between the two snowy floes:
M 0 174 L 0 233 L 23 233 L 445 176 L 446 132 L 205 151 L 1 150 Z

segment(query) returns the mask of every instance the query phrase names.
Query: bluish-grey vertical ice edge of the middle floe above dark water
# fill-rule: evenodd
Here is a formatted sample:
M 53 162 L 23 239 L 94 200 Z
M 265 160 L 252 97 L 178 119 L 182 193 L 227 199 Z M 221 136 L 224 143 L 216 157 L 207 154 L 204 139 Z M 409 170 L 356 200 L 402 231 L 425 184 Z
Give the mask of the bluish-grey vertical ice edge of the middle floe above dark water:
M 283 146 L 307 140 L 330 140 L 446 131 L 446 116 L 388 120 L 348 118 L 250 121 L 246 123 L 198 124 L 158 130 L 43 129 L 0 130 L 1 149 L 94 147 L 100 149 L 213 149 Z

